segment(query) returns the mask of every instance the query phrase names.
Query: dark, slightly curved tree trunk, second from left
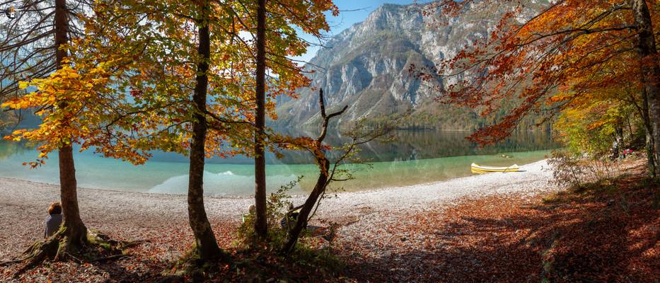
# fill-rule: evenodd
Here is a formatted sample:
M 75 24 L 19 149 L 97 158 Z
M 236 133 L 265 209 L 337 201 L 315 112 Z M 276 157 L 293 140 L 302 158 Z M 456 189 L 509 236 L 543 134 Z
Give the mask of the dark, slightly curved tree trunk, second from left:
M 202 15 L 208 13 L 208 6 L 202 6 Z M 195 115 L 192 122 L 192 141 L 190 143 L 190 171 L 188 179 L 188 221 L 195 235 L 193 252 L 202 260 L 219 258 L 221 250 L 216 241 L 211 224 L 204 209 L 204 156 L 207 137 L 207 120 L 204 111 L 207 103 L 207 87 L 209 78 L 209 58 L 211 46 L 209 40 L 209 26 L 204 20 L 199 21 L 199 63 L 197 63 L 197 77 L 195 93 L 192 96 L 195 103 Z

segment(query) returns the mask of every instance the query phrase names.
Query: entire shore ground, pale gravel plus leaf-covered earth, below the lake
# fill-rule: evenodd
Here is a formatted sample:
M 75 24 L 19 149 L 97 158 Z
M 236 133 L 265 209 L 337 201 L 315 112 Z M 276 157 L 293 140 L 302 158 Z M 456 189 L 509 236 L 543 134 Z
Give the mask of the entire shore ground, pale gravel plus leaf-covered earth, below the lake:
M 658 278 L 655 188 L 635 185 L 646 180 L 643 160 L 625 164 L 632 170 L 617 179 L 614 191 L 562 191 L 548 182 L 552 172 L 545 161 L 522 167 L 526 172 L 347 192 L 324 200 L 312 225 L 334 226 L 336 236 L 330 242 L 313 241 L 318 248 L 331 248 L 345 263 L 337 280 L 330 281 L 539 281 L 547 277 L 540 265 L 576 258 L 621 260 L 588 262 L 586 272 L 570 278 Z M 0 260 L 11 260 L 43 236 L 43 203 L 57 191 L 59 187 L 0 178 Z M 0 281 L 160 282 L 161 272 L 192 246 L 184 196 L 84 188 L 79 195 L 88 229 L 141 243 L 119 260 L 54 262 L 19 279 L 9 277 L 18 265 L 0 267 Z M 205 202 L 219 246 L 238 252 L 239 259 L 241 222 L 234 215 L 252 202 L 245 197 L 208 197 Z M 556 274 L 564 276 L 560 272 Z

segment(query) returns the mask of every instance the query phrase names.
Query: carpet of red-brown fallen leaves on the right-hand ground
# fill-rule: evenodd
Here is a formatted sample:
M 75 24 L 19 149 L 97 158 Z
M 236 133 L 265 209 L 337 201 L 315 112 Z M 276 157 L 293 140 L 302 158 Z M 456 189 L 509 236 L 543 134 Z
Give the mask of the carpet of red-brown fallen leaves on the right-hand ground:
M 657 187 L 643 161 L 616 189 L 540 197 L 499 195 L 400 215 L 342 241 L 347 274 L 372 282 L 655 282 Z M 387 216 L 388 219 L 393 218 Z

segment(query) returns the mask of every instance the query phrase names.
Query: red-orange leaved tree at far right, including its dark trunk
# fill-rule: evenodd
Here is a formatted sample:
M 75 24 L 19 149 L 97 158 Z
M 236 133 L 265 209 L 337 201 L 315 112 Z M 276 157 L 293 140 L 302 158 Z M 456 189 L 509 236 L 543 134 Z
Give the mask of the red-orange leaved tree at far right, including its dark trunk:
M 649 101 L 652 137 L 659 138 L 656 108 L 658 95 L 654 74 L 655 57 L 652 21 L 656 14 L 643 0 L 552 1 L 543 11 L 521 18 L 522 4 L 509 1 L 511 10 L 499 19 L 492 32 L 473 46 L 434 67 L 412 67 L 420 79 L 451 81 L 441 89 L 441 100 L 481 110 L 487 115 L 499 103 L 511 99 L 519 104 L 495 125 L 477 130 L 470 138 L 480 144 L 501 141 L 522 117 L 531 112 L 552 115 L 567 108 L 574 97 L 584 93 L 566 92 L 556 96 L 557 88 L 567 87 L 584 70 L 601 70 L 612 60 L 635 58 L 643 76 L 620 79 L 639 83 Z M 438 1 L 426 6 L 425 13 L 436 9 L 457 15 L 468 8 L 499 5 L 499 1 Z M 589 76 L 581 77 L 584 81 Z M 452 81 L 453 80 L 453 81 Z M 613 81 L 611 83 L 619 83 Z M 658 144 L 654 144 L 658 152 Z M 657 156 L 656 156 L 657 157 Z M 657 162 L 657 158 L 655 158 Z M 657 166 L 656 172 L 657 172 Z M 656 174 L 657 175 L 657 174 Z

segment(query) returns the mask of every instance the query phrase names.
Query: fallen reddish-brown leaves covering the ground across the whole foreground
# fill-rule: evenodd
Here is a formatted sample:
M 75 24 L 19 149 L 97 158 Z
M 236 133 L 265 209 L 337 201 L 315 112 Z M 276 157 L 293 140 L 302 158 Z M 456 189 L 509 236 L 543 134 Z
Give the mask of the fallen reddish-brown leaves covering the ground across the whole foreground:
M 315 268 L 281 262 L 275 255 L 232 248 L 238 222 L 212 218 L 220 246 L 228 249 L 235 262 L 243 262 L 219 266 L 213 278 L 240 282 L 254 276 L 250 268 L 258 267 L 261 279 L 275 282 L 285 275 L 298 282 L 320 278 L 325 282 L 659 281 L 660 213 L 653 195 L 657 187 L 644 185 L 639 168 L 628 173 L 614 183 L 615 190 L 560 192 L 552 197 L 547 193 L 496 195 L 412 213 L 357 208 L 364 212 L 360 217 L 320 219 L 342 225 L 330 250 L 345 263 L 341 275 L 323 277 L 317 277 Z M 39 224 L 28 221 L 34 218 L 32 209 L 10 208 L 28 215 L 16 222 L 28 225 L 0 233 L 2 246 L 7 244 L 16 254 L 32 241 L 26 231 Z M 352 229 L 365 217 L 381 220 L 367 223 L 380 224 Z M 184 216 L 141 219 L 125 215 L 122 219 L 87 222 L 112 230 L 108 234 L 117 240 L 147 240 L 129 248 L 130 257 L 83 265 L 50 262 L 18 281 L 154 282 L 192 243 Z M 0 281 L 8 281 L 13 268 L 0 267 Z

